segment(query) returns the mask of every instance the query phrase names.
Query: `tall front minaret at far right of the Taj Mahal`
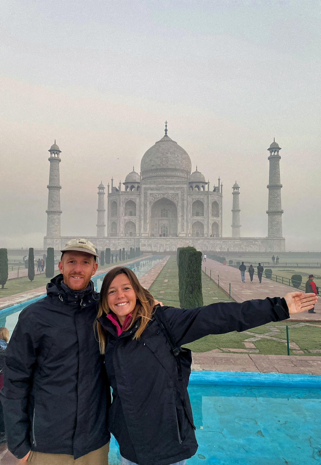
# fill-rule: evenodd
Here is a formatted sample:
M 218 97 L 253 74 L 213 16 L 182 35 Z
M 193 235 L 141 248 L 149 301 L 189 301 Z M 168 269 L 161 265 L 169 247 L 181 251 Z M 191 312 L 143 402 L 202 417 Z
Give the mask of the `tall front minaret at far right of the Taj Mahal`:
M 268 178 L 268 237 L 282 237 L 281 179 L 279 151 L 281 147 L 274 141 L 269 146 L 270 173 Z

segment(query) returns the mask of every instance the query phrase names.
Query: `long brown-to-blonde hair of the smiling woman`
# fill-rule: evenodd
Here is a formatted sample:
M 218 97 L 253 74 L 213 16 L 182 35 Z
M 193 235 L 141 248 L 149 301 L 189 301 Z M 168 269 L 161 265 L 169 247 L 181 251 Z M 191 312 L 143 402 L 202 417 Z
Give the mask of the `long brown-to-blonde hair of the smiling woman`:
M 141 336 L 141 333 L 145 330 L 148 321 L 151 319 L 152 311 L 154 308 L 154 297 L 150 292 L 147 291 L 143 286 L 141 286 L 139 280 L 137 279 L 137 276 L 135 275 L 132 270 L 129 268 L 126 268 L 125 266 L 116 266 L 112 270 L 110 270 L 101 285 L 100 289 L 100 298 L 99 298 L 99 310 L 98 310 L 98 315 L 97 318 L 100 318 L 104 313 L 108 314 L 110 312 L 110 308 L 108 307 L 108 302 L 107 302 L 107 296 L 108 296 L 108 289 L 114 280 L 114 278 L 118 274 L 126 274 L 127 278 L 130 281 L 130 284 L 133 286 L 134 292 L 136 294 L 136 306 L 131 312 L 132 314 L 132 321 L 130 325 L 124 329 L 124 331 L 127 331 L 128 329 L 131 328 L 131 326 L 134 324 L 134 321 L 137 318 L 140 318 L 139 322 L 139 328 L 135 332 L 134 339 L 139 339 Z M 100 352 L 104 353 L 105 352 L 105 345 L 106 345 L 106 340 L 105 340 L 105 331 L 103 327 L 101 326 L 100 322 L 95 321 L 96 327 L 97 327 L 97 333 L 98 333 L 98 339 L 99 339 L 99 345 L 100 345 Z

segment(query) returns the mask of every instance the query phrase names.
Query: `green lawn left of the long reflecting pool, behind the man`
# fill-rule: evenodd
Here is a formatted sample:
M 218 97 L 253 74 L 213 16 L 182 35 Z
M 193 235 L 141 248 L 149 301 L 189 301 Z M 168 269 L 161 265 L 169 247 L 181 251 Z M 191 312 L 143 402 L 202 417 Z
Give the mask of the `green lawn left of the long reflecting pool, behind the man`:
M 114 265 L 119 265 L 119 264 L 125 264 L 125 263 L 131 263 L 134 259 L 128 259 L 127 261 L 118 261 L 117 264 L 111 263 L 110 265 L 104 265 L 100 266 L 98 265 L 98 270 L 96 274 L 99 274 L 99 271 L 101 269 L 108 268 L 109 266 L 114 266 Z M 58 270 L 55 270 L 55 275 L 59 274 Z M 20 292 L 26 292 L 26 291 L 31 291 L 32 289 L 36 289 L 37 287 L 42 287 L 46 286 L 47 283 L 50 281 L 49 278 L 46 277 L 45 272 L 41 274 L 36 274 L 34 276 L 33 281 L 29 281 L 28 277 L 23 277 L 23 278 L 14 278 L 14 279 L 9 279 L 7 283 L 5 284 L 5 289 L 0 289 L 0 299 L 2 297 L 8 297 L 10 295 L 14 294 L 19 294 Z

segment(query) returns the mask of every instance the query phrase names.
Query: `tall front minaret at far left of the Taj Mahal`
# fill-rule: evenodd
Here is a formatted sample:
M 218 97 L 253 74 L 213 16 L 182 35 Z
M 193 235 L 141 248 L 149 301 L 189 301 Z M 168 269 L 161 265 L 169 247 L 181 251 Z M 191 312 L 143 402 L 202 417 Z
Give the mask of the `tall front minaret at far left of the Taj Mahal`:
M 54 144 L 48 150 L 50 157 L 49 184 L 48 189 L 48 209 L 47 213 L 47 237 L 60 237 L 60 175 L 59 163 L 61 150 L 54 140 Z

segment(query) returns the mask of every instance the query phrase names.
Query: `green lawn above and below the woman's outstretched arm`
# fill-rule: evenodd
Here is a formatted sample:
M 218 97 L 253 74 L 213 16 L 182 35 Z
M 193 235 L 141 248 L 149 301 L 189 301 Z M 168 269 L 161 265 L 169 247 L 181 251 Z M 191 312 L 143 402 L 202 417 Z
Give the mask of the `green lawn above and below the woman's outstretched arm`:
M 165 282 L 167 279 L 167 282 Z M 203 286 L 203 300 L 204 305 L 208 305 L 213 302 L 225 302 L 228 301 L 227 295 L 217 287 L 217 285 L 202 273 L 202 286 Z M 179 307 L 178 300 L 178 268 L 176 265 L 176 257 L 171 256 L 167 261 L 158 277 L 155 279 L 154 284 L 151 286 L 150 291 L 154 297 L 158 298 L 163 302 L 164 305 Z M 233 300 L 232 300 L 233 301 Z M 309 355 L 309 356 L 320 356 L 321 353 L 308 352 L 309 349 L 321 351 L 321 323 L 316 323 L 319 326 L 312 326 L 306 324 L 301 326 L 301 323 L 289 321 L 289 322 L 276 322 L 269 323 L 268 325 L 259 326 L 251 329 L 247 334 L 245 332 L 230 332 L 227 334 L 214 334 L 201 338 L 194 341 L 191 344 L 187 344 L 193 352 L 207 352 L 212 349 L 245 349 L 243 344 L 249 338 L 255 335 L 260 336 L 266 333 L 270 333 L 273 328 L 280 330 L 280 332 L 274 333 L 274 339 L 265 339 L 254 341 L 255 348 L 260 353 L 265 355 L 287 355 L 287 344 L 279 341 L 278 339 L 286 340 L 286 325 L 289 326 L 289 340 L 295 342 L 301 350 L 305 351 L 303 354 L 297 354 L 296 352 L 290 351 L 295 355 Z M 224 352 L 224 351 L 222 351 Z

